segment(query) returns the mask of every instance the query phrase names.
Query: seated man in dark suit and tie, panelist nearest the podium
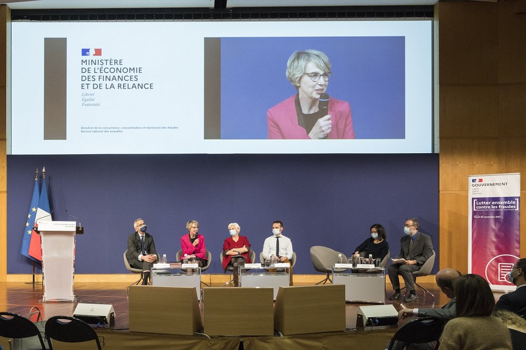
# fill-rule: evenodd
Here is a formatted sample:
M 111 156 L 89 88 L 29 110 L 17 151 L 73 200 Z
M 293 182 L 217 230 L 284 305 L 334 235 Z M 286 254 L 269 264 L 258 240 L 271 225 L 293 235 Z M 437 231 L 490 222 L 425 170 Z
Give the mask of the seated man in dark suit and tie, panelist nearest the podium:
M 126 258 L 131 267 L 143 269 L 143 285 L 147 285 L 150 268 L 157 259 L 154 237 L 146 232 L 146 223 L 143 219 L 136 219 L 133 225 L 135 232 L 128 237 Z

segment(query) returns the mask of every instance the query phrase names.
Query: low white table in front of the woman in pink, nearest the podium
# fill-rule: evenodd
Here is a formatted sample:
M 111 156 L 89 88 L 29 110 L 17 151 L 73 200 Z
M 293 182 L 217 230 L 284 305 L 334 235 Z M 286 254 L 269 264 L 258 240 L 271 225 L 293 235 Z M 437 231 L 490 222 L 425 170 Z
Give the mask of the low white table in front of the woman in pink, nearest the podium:
M 169 272 L 169 274 L 166 273 Z M 151 269 L 151 285 L 156 287 L 195 287 L 197 300 L 201 300 L 201 268 L 193 268 L 192 272 L 181 268 Z

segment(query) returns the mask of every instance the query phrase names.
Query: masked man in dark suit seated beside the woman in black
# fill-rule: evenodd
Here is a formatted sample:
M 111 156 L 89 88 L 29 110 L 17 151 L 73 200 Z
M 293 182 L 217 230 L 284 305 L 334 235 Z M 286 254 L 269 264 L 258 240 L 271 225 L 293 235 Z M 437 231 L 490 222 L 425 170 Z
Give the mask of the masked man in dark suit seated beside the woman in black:
M 418 219 L 413 218 L 407 220 L 406 226 L 403 228 L 403 232 L 406 235 L 400 239 L 400 254 L 393 259 L 393 263 L 387 269 L 389 279 L 391 280 L 393 289 L 395 289 L 395 294 L 393 294 L 389 300 L 399 300 L 401 297 L 400 282 L 398 280 L 398 275 L 401 275 L 409 292 L 404 302 L 418 302 L 417 292 L 414 290 L 412 273 L 418 271 L 433 254 L 431 237 L 418 232 L 418 227 Z

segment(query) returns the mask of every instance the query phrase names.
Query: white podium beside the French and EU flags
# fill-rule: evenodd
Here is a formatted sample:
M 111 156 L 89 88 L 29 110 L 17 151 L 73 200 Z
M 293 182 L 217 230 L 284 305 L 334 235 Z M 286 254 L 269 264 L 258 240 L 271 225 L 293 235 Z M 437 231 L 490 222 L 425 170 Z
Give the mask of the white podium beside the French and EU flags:
M 38 222 L 42 242 L 42 302 L 74 302 L 75 221 Z

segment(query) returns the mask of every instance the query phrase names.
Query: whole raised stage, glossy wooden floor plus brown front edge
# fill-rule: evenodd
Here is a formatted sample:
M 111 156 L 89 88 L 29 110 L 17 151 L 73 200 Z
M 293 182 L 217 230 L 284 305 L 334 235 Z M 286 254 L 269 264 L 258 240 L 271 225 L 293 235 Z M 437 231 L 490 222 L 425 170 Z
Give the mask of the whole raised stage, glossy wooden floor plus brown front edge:
M 312 285 L 312 284 L 297 284 Z M 115 309 L 115 326 L 113 329 L 96 328 L 99 336 L 104 337 L 104 349 L 129 349 L 131 347 L 154 347 L 158 349 L 178 348 L 178 349 L 238 349 L 242 342 L 242 348 L 272 348 L 272 349 L 294 349 L 294 348 L 381 348 L 387 343 L 395 333 L 396 328 L 376 329 L 375 327 L 363 329 L 354 329 L 356 327 L 356 315 L 358 307 L 370 304 L 347 303 L 346 304 L 346 328 L 345 332 L 304 334 L 294 336 L 265 336 L 265 337 L 211 337 L 208 339 L 205 335 L 196 334 L 194 336 L 175 336 L 151 333 L 134 333 L 129 332 L 128 320 L 128 298 L 126 287 L 128 283 L 75 283 L 75 295 L 79 303 L 87 304 L 112 304 Z M 219 285 L 217 285 L 219 286 Z M 217 287 L 213 285 L 213 287 Z M 435 295 L 434 307 L 440 307 L 448 302 L 445 295 L 440 292 L 436 284 L 424 284 L 424 287 L 430 289 Z M 206 287 L 205 287 L 206 288 Z M 232 287 L 225 287 L 232 288 Z M 42 285 L 32 285 L 21 282 L 0 283 L 0 311 L 9 311 L 21 314 L 25 317 L 29 315 L 29 309 L 37 306 L 44 319 L 55 315 L 72 316 L 78 302 L 75 303 L 39 303 L 42 298 Z M 388 286 L 388 295 L 390 295 Z M 389 302 L 397 310 L 403 307 L 431 307 L 432 301 L 428 297 L 424 302 L 423 295 L 418 293 L 420 301 L 404 305 L 403 302 Z M 236 308 L 250 307 L 250 301 L 246 306 L 236 302 Z M 204 313 L 206 301 L 199 303 L 201 315 Z M 177 313 L 174 310 L 174 313 Z M 330 317 L 330 315 L 320 315 L 320 317 Z M 232 322 L 258 322 L 257 319 L 244 319 L 241 317 L 232 318 Z M 205 325 L 206 327 L 206 325 Z M 102 338 L 101 338 L 102 339 Z M 0 338 L 0 345 L 8 348 L 7 339 Z M 81 344 L 78 344 L 81 345 Z M 94 344 L 92 344 L 94 345 Z M 77 348 L 72 345 L 64 344 L 64 348 Z M 90 348 L 90 347 L 78 347 Z

